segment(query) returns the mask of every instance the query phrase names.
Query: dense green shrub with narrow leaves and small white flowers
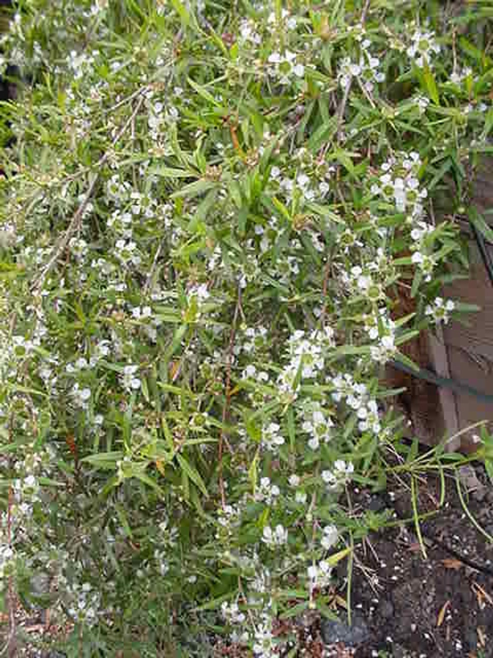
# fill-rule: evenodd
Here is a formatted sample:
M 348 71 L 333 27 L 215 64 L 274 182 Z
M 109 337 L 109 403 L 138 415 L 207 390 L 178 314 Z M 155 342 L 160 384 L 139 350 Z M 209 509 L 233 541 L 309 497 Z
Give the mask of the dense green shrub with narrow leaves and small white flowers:
M 491 148 L 478 5 L 18 2 L 0 580 L 49 576 L 70 655 L 269 658 L 331 614 L 387 520 L 352 486 L 408 451 L 382 367 L 471 310 L 441 286 Z

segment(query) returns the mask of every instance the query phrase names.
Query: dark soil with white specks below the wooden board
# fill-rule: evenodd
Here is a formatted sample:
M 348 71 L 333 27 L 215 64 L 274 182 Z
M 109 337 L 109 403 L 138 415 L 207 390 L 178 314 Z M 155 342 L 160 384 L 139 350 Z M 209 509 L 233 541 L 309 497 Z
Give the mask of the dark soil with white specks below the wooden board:
M 461 482 L 464 491 L 469 489 L 467 507 L 493 534 L 493 487 L 484 471 L 467 467 Z M 366 554 L 360 551 L 362 565 L 374 571 L 371 582 L 369 573 L 355 563 L 355 626 L 362 626 L 367 637 L 359 644 L 348 642 L 355 646 L 356 658 L 493 658 L 493 543 L 467 518 L 454 480 L 446 489 L 444 507 L 421 524 L 426 560 L 413 523 L 375 534 Z M 362 503 L 374 509 L 391 507 L 400 519 L 412 517 L 411 497 L 405 491 L 396 489 L 390 497 L 361 496 Z M 439 497 L 438 480 L 427 477 L 419 484 L 419 512 L 436 509 Z M 326 633 L 325 640 L 331 639 Z M 339 649 L 344 655 L 342 645 Z

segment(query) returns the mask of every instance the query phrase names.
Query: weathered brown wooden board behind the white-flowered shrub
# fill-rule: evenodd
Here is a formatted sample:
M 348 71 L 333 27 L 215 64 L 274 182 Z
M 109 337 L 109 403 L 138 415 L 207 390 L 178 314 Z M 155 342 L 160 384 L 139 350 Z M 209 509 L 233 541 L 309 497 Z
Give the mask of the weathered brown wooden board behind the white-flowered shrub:
M 485 213 L 493 209 L 493 159 L 484 159 L 473 178 L 471 204 L 480 213 Z M 450 195 L 446 198 L 447 204 L 450 198 Z M 440 205 L 439 215 L 450 213 L 444 204 Z M 484 219 L 488 224 L 493 224 L 493 214 L 485 214 Z M 493 395 L 493 286 L 469 223 L 461 223 L 461 228 L 469 239 L 469 278 L 445 286 L 443 296 L 475 304 L 481 310 L 468 316 L 467 326 L 450 322 L 437 328 L 436 332 L 423 332 L 406 346 L 405 352 L 421 368 L 429 368 L 439 376 L 452 378 L 460 384 Z M 493 256 L 493 245 L 488 245 L 488 249 Z M 386 380 L 396 388 L 406 386 L 406 393 L 394 403 L 410 421 L 406 433 L 417 436 L 423 443 L 435 445 L 444 436 L 454 437 L 480 420 L 488 420 L 493 431 L 493 404 L 468 393 L 437 388 L 391 367 L 386 370 Z M 475 450 L 477 444 L 474 436 L 477 434 L 478 428 L 466 431 L 459 438 L 449 440 L 446 447 L 449 450 Z

